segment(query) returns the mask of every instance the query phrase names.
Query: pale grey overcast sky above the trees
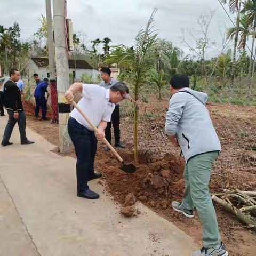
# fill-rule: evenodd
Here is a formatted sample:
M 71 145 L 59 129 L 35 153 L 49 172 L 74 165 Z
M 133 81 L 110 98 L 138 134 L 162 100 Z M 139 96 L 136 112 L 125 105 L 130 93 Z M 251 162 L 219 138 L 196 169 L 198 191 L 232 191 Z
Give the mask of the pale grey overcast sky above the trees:
M 230 27 L 227 14 L 218 0 L 67 0 L 68 18 L 73 20 L 74 31 L 83 31 L 87 41 L 110 37 L 111 45 L 132 45 L 135 35 L 157 7 L 155 28 L 160 38 L 181 47 L 181 29 L 198 29 L 197 18 L 215 10 L 210 26 L 210 39 L 217 42 L 217 50 L 211 49 L 207 57 L 218 54 L 221 48 L 219 24 Z M 28 40 L 40 26 L 38 20 L 45 15 L 44 0 L 0 0 L 0 24 L 9 27 L 17 21 L 22 41 Z M 189 35 L 187 35 L 189 38 Z

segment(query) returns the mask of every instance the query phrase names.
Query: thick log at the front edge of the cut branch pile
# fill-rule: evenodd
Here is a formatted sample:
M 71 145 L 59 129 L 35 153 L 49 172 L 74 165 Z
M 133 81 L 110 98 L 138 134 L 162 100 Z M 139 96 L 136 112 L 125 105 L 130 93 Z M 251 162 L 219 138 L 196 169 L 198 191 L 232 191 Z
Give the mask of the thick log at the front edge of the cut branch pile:
M 221 205 L 227 212 L 231 212 L 234 215 L 236 215 L 236 217 L 243 221 L 244 223 L 246 223 L 247 225 L 249 225 L 250 227 L 252 227 L 253 229 L 256 230 L 256 222 L 254 222 L 253 220 L 251 220 L 249 217 L 247 217 L 244 213 L 242 213 L 241 211 L 239 211 L 236 207 L 231 206 L 230 204 L 228 204 L 227 202 L 223 201 L 222 199 L 220 199 L 217 196 L 212 196 L 212 200 L 216 203 L 218 203 L 219 205 Z

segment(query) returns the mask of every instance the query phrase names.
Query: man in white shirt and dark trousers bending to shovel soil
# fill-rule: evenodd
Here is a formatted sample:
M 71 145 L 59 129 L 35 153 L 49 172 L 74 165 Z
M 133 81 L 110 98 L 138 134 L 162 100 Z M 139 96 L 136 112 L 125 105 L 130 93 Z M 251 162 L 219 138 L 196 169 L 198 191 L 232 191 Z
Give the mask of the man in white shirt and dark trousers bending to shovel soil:
M 102 140 L 105 138 L 105 129 L 115 109 L 115 103 L 124 100 L 129 92 L 127 85 L 118 82 L 110 89 L 105 89 L 95 84 L 74 83 L 65 93 L 65 98 L 69 103 L 73 101 L 75 92 L 82 92 L 83 98 L 77 105 L 90 121 L 98 127 L 99 132 L 96 137 Z M 94 172 L 97 138 L 92 127 L 79 114 L 77 109 L 70 113 L 68 133 L 74 144 L 77 157 L 77 196 L 98 199 L 99 194 L 93 192 L 87 186 L 87 181 L 102 176 L 101 173 Z

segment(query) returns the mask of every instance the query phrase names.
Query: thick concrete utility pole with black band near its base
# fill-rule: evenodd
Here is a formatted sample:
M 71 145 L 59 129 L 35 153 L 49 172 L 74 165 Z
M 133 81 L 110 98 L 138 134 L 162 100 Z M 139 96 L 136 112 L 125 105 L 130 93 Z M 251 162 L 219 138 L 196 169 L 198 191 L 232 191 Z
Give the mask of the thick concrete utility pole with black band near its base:
M 73 151 L 73 145 L 67 130 L 70 105 L 64 98 L 64 93 L 69 88 L 68 53 L 66 50 L 67 38 L 65 38 L 65 2 L 66 0 L 53 0 L 60 153 L 69 153 Z

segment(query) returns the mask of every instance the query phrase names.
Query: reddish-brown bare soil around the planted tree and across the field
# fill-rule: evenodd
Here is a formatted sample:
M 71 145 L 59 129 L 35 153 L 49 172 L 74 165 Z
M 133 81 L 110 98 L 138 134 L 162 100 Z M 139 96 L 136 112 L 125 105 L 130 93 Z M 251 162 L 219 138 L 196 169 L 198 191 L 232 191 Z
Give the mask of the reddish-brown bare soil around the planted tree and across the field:
M 125 203 L 125 197 L 133 193 L 143 204 L 162 217 L 171 221 L 193 237 L 198 246 L 202 245 L 201 224 L 196 214 L 187 219 L 183 214 L 172 210 L 171 202 L 181 201 L 183 182 L 183 158 L 179 149 L 174 148 L 164 134 L 164 118 L 168 100 L 152 98 L 145 115 L 139 122 L 139 163 L 137 172 L 127 174 L 118 169 L 118 161 L 111 153 L 103 150 L 101 142 L 95 158 L 95 171 L 102 172 L 103 180 L 114 199 Z M 222 153 L 213 166 L 210 182 L 211 193 L 223 191 L 228 187 L 243 190 L 256 189 L 256 161 L 253 145 L 256 145 L 255 107 L 212 104 L 209 108 L 213 124 L 222 144 Z M 27 123 L 35 132 L 58 146 L 58 124 L 38 121 L 31 116 L 31 106 L 25 107 Z M 32 115 L 34 112 L 32 111 Z M 132 118 L 121 121 L 122 141 L 126 149 L 118 149 L 125 162 L 133 161 Z M 58 147 L 54 150 L 58 153 Z M 69 154 L 74 156 L 74 152 Z M 75 169 L 75 166 L 74 166 Z M 75 172 L 74 172 L 75 173 Z M 102 182 L 99 182 L 102 183 Z M 235 217 L 215 205 L 222 241 L 233 256 L 256 255 L 256 234 L 239 223 Z

